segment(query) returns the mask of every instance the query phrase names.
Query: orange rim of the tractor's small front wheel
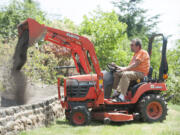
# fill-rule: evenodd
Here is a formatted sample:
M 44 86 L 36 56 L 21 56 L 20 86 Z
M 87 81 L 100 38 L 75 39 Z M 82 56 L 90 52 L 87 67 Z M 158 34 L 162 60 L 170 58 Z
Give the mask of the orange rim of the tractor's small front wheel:
M 84 114 L 81 113 L 81 112 L 76 112 L 76 113 L 74 113 L 74 115 L 73 115 L 73 121 L 74 121 L 74 123 L 77 124 L 77 125 L 82 125 L 82 124 L 84 124 L 84 122 L 85 122 L 85 116 L 84 116 Z

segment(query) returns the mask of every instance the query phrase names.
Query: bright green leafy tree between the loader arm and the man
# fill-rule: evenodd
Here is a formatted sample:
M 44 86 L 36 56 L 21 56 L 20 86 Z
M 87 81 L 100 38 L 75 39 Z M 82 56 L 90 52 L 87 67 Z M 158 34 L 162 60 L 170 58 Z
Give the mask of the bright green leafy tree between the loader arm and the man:
M 118 21 L 114 11 L 96 10 L 91 17 L 84 16 L 79 34 L 90 37 L 100 66 L 104 69 L 112 61 L 122 66 L 129 62 L 129 46 L 126 46 L 128 39 L 125 31 L 126 24 Z

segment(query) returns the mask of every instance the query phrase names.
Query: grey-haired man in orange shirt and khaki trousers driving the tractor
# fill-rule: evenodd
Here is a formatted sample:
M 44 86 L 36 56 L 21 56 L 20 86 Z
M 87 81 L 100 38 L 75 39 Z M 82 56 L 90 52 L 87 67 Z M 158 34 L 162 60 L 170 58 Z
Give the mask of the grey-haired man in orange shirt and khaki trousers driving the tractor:
M 113 102 L 125 102 L 125 96 L 131 80 L 143 79 L 148 75 L 150 68 L 150 57 L 147 51 L 141 49 L 142 41 L 140 39 L 133 39 L 131 41 L 131 51 L 134 55 L 127 67 L 112 65 L 117 67 L 117 72 L 113 74 Z

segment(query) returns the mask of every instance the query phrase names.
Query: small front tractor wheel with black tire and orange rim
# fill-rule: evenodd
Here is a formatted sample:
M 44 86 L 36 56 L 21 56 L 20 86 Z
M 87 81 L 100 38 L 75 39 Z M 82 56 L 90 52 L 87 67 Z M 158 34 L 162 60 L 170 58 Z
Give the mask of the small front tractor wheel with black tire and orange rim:
M 85 106 L 76 106 L 70 113 L 70 122 L 75 126 L 88 125 L 91 121 L 91 115 Z

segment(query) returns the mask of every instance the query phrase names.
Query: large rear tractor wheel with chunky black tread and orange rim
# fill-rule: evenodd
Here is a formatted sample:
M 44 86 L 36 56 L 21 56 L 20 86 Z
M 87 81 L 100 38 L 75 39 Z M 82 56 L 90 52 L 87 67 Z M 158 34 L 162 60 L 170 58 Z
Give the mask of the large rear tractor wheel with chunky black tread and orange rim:
M 160 95 L 147 95 L 139 102 L 139 112 L 145 122 L 162 122 L 166 119 L 167 103 Z

